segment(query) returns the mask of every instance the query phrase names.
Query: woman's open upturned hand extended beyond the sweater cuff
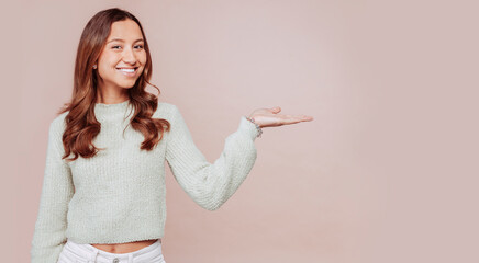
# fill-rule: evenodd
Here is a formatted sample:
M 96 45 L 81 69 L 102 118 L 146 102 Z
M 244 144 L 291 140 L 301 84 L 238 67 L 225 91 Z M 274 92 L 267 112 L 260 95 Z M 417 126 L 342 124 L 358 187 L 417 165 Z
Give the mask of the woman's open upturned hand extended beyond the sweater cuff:
M 254 118 L 255 123 L 261 128 L 313 121 L 312 116 L 279 114 L 280 111 L 281 107 L 279 106 L 270 108 L 258 108 L 255 110 L 249 115 L 249 117 Z

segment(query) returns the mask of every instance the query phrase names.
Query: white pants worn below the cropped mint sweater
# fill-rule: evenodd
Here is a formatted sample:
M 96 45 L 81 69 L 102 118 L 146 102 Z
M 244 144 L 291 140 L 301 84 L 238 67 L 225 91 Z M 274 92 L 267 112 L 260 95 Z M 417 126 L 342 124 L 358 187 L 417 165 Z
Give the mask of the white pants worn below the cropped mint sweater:
M 161 243 L 155 243 L 130 253 L 110 253 L 91 244 L 65 243 L 57 263 L 166 263 Z

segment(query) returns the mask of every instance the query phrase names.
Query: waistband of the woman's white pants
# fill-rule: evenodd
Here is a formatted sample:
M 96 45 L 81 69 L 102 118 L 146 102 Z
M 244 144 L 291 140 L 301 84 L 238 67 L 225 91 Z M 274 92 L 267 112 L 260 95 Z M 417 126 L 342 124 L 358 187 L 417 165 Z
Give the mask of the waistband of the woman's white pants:
M 70 239 L 67 240 L 65 244 L 66 249 L 70 249 L 73 251 L 81 251 L 81 253 L 86 255 L 90 255 L 90 260 L 94 261 L 97 256 L 105 258 L 107 260 L 118 259 L 119 261 L 127 261 L 132 262 L 133 258 L 144 258 L 148 256 L 152 252 L 161 254 L 161 243 L 159 239 L 156 240 L 153 244 L 145 247 L 141 250 L 136 250 L 130 253 L 110 253 L 103 250 L 99 250 L 91 244 L 79 244 Z

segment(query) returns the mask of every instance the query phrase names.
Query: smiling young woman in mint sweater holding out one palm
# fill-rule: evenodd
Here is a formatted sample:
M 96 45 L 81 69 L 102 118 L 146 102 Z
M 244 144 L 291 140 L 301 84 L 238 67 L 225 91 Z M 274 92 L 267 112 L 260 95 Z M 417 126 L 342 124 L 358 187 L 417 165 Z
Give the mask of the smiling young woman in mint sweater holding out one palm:
M 151 76 L 140 21 L 97 13 L 78 45 L 71 100 L 49 124 L 32 263 L 165 262 L 165 160 L 186 193 L 215 210 L 253 168 L 263 127 L 312 121 L 258 108 L 209 163 L 178 107 L 145 91 Z

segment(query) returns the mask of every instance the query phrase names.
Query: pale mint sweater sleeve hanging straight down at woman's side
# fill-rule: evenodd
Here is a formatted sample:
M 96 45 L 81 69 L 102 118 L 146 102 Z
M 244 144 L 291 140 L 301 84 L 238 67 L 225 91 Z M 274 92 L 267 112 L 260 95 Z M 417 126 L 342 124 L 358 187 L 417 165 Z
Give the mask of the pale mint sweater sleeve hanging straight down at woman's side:
M 54 119 L 48 129 L 46 164 L 40 208 L 32 239 L 32 263 L 56 263 L 67 240 L 68 203 L 75 192 L 71 172 L 65 160 L 62 144 L 62 123 Z

